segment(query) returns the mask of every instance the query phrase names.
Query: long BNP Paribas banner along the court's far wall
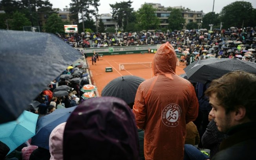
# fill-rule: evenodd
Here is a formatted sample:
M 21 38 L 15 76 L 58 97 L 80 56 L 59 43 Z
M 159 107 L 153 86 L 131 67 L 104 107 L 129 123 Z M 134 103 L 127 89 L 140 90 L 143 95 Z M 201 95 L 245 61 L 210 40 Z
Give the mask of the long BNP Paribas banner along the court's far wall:
M 136 46 L 123 46 L 123 47 L 99 47 L 99 48 L 84 48 L 83 53 L 88 56 L 93 53 L 99 53 L 99 55 L 123 55 L 123 54 L 135 54 L 135 53 L 154 53 L 157 49 L 157 45 L 136 45 Z M 153 51 L 153 52 L 152 52 Z

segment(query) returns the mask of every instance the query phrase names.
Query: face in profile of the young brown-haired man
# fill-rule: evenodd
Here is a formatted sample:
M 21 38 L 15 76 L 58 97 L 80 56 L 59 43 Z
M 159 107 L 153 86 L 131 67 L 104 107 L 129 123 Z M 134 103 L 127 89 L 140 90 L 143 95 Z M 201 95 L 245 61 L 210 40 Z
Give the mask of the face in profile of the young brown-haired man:
M 224 107 L 219 104 L 219 100 L 216 98 L 216 93 L 209 96 L 209 103 L 212 105 L 212 110 L 209 115 L 214 118 L 218 130 L 227 133 L 230 127 L 232 127 L 232 117 L 234 112 L 230 111 L 230 113 L 226 115 Z

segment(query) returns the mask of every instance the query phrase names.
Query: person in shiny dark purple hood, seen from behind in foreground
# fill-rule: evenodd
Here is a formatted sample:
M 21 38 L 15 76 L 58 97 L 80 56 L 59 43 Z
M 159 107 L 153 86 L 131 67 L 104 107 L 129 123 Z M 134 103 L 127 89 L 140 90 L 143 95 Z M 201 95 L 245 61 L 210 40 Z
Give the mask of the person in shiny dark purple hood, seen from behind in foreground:
M 63 138 L 64 160 L 139 160 L 134 115 L 115 97 L 83 101 L 68 118 Z

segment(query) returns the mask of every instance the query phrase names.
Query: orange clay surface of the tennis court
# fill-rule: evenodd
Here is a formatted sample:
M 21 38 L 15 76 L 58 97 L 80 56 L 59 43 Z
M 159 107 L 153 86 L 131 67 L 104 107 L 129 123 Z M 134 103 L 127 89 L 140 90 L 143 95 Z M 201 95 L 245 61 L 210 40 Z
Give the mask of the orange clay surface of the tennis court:
M 92 65 L 91 57 L 87 58 L 87 64 L 89 66 L 89 71 L 91 75 L 91 83 L 97 86 L 96 95 L 101 96 L 102 89 L 113 79 L 124 76 L 124 75 L 134 75 L 144 78 L 145 80 L 151 78 L 152 69 L 132 69 L 127 71 L 119 71 L 120 63 L 142 63 L 142 62 L 152 62 L 154 53 L 145 54 L 130 54 L 130 55 L 106 55 L 99 56 L 99 61 L 97 60 L 96 65 Z M 112 67 L 113 72 L 105 72 L 106 67 Z M 183 71 L 184 65 L 179 65 L 176 67 L 176 74 L 181 75 L 185 73 Z

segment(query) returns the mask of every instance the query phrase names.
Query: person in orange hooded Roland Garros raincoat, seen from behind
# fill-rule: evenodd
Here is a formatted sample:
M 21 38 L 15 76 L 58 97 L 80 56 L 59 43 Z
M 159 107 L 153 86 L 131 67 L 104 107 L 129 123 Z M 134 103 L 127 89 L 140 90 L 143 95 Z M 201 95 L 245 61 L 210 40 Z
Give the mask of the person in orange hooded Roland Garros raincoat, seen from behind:
M 133 105 L 137 127 L 144 129 L 146 160 L 183 160 L 186 124 L 198 114 L 192 84 L 176 75 L 176 53 L 169 43 L 155 53 L 154 77 L 139 85 Z

